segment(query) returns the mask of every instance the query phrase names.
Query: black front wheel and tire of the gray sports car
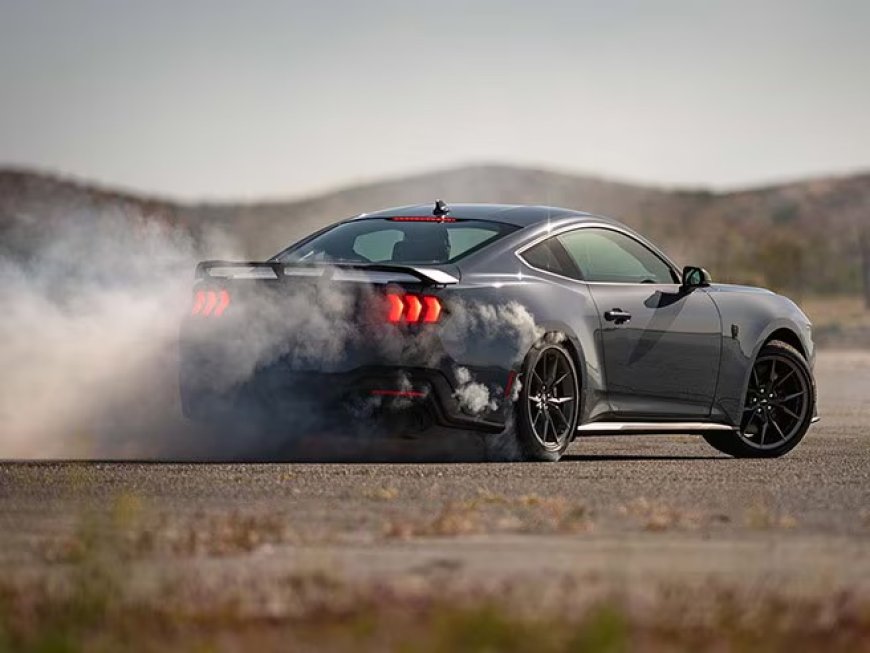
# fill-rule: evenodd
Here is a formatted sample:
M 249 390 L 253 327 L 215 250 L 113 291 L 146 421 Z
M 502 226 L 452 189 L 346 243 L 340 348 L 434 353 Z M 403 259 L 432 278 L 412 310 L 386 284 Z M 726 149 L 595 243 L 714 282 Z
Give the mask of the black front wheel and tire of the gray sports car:
M 744 398 L 739 433 L 704 439 L 735 458 L 778 458 L 794 449 L 812 424 L 816 387 L 806 359 L 772 340 L 758 352 Z

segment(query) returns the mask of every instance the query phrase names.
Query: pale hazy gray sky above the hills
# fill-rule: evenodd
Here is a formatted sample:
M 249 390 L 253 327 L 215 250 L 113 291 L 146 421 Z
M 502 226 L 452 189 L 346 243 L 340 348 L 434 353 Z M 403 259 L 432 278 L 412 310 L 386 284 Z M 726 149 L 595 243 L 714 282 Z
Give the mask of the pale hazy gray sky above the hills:
M 868 0 L 0 0 L 0 164 L 197 198 L 870 169 Z

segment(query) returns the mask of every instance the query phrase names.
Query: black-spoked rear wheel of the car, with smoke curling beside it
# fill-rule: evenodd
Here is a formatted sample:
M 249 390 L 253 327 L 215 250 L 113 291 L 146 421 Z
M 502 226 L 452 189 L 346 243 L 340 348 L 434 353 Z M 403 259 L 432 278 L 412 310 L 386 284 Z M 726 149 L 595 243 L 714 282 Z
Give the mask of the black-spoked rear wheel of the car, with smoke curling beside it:
M 541 342 L 523 362 L 514 433 L 520 457 L 556 462 L 571 444 L 580 414 L 580 382 L 571 353 Z

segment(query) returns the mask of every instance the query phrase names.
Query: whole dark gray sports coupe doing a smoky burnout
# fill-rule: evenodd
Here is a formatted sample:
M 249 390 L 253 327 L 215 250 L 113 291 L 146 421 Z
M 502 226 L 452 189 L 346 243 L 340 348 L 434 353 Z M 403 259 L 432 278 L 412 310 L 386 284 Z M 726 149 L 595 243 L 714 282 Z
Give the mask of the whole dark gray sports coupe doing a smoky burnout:
M 588 213 L 404 206 L 266 262 L 200 263 L 196 277 L 180 352 L 192 419 L 470 430 L 548 461 L 602 434 L 781 456 L 817 419 L 810 322 L 794 303 L 680 270 Z

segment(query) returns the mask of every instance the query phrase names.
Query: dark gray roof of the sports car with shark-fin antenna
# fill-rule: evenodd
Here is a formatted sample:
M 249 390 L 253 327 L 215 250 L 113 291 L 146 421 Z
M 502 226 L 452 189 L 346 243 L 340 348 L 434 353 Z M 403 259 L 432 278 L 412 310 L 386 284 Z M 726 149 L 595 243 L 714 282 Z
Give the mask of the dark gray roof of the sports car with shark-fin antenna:
M 397 206 L 383 211 L 363 213 L 356 216 L 355 220 L 370 218 L 395 218 L 407 217 L 432 217 L 435 204 L 409 204 Z M 578 221 L 588 219 L 595 222 L 620 223 L 610 218 L 593 215 L 583 211 L 574 211 L 556 206 L 526 206 L 523 204 L 449 204 L 451 218 L 468 220 L 489 220 L 491 222 L 503 222 L 517 227 L 530 227 L 532 225 L 547 222 L 549 220 L 575 218 Z

